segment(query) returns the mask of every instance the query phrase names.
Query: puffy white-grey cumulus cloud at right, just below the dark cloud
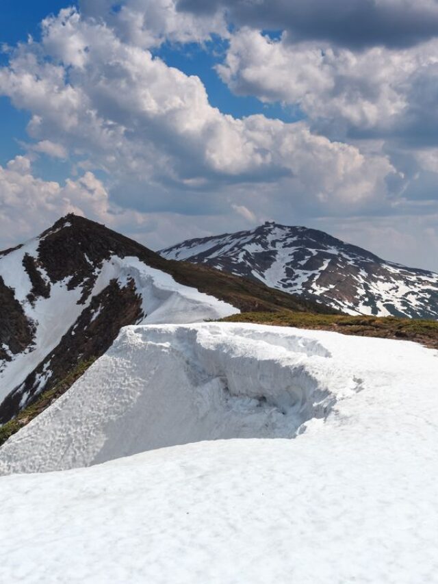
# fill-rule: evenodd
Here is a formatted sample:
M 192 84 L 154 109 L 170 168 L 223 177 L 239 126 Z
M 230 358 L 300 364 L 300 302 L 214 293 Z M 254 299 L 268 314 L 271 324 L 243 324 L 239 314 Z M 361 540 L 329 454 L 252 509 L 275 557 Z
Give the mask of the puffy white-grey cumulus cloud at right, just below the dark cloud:
M 315 42 L 291 45 L 253 29 L 231 38 L 218 73 L 233 92 L 299 105 L 325 132 L 437 140 L 438 40 L 360 52 Z

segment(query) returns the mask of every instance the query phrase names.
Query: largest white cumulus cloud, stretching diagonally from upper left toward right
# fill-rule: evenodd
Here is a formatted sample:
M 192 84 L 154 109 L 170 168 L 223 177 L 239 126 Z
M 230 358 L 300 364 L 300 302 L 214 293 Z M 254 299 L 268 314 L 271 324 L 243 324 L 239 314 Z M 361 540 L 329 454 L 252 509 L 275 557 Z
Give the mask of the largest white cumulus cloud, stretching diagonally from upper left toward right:
M 218 184 L 284 178 L 285 197 L 302 204 L 357 208 L 385 196 L 394 173 L 385 155 L 331 142 L 305 123 L 222 114 L 198 77 L 74 9 L 47 18 L 42 30 L 41 42 L 18 47 L 0 70 L 0 91 L 32 113 L 29 133 L 40 144 L 60 144 L 106 170 L 119 204 L 125 196 L 138 210 L 175 210 L 178 191 L 196 198 Z M 205 199 L 196 204 L 211 204 Z

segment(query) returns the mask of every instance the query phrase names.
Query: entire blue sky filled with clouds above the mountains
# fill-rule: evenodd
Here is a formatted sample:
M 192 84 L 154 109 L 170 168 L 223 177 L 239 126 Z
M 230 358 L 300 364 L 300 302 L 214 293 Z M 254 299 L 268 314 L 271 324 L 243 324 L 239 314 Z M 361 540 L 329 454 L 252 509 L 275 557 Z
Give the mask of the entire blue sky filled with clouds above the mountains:
M 438 0 L 3 0 L 0 248 L 266 220 L 438 271 Z

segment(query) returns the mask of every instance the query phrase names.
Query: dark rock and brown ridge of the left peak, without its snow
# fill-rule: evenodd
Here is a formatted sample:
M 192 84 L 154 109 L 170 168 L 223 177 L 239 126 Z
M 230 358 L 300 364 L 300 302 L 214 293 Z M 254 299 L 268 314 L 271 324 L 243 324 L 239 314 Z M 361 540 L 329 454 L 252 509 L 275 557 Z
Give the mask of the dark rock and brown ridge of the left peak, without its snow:
M 39 351 L 38 362 L 31 371 L 26 370 L 25 379 L 19 379 L 16 383 L 9 381 L 8 388 L 0 388 L 5 396 L 0 403 L 0 424 L 16 416 L 42 392 L 55 387 L 78 364 L 103 355 L 121 327 L 136 324 L 146 316 L 142 314 L 142 297 L 134 279 L 128 277 L 122 282 L 108 277 L 103 285 L 99 283 L 99 292 L 96 292 L 94 286 L 101 276 L 103 264 L 112 257 L 137 258 L 146 266 L 170 274 L 178 283 L 216 296 L 242 312 L 279 309 L 333 312 L 306 299 L 272 290 L 261 283 L 209 266 L 164 259 L 104 225 L 73 214 L 61 218 L 44 231 L 30 248 L 18 246 L 0 252 L 0 267 L 2 258 L 10 253 L 16 253 L 16 257 L 20 258 L 13 268 L 20 272 L 17 281 L 23 275 L 22 270 L 26 272 L 31 288 L 26 297 L 19 301 L 14 290 L 8 288 L 0 277 L 0 383 L 2 366 L 7 366 L 14 355 L 28 355 L 40 348 L 35 327 L 42 307 L 48 307 L 51 312 L 52 297 L 60 287 L 62 290 L 77 291 L 77 302 L 73 302 L 79 310 L 73 311 L 76 315 L 74 322 L 68 322 L 71 307 L 70 313 L 67 310 L 66 322 L 63 323 L 66 332 L 56 346 L 48 349 L 47 353 L 43 352 L 41 357 Z M 54 302 L 58 303 L 59 310 L 60 299 Z M 29 314 L 35 315 L 35 322 Z M 64 318 L 62 312 L 60 318 Z M 47 337 L 47 331 L 45 333 Z M 50 337 L 50 331 L 48 334 Z

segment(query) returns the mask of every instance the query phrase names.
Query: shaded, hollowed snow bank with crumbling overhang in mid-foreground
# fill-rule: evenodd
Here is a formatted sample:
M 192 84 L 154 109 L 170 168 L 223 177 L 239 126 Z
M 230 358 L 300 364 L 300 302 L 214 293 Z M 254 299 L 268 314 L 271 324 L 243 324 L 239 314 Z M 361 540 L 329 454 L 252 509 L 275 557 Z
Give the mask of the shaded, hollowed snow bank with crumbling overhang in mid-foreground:
M 335 402 L 330 353 L 317 340 L 262 329 L 125 327 L 60 400 L 0 449 L 0 473 L 89 466 L 200 440 L 294 437 Z M 355 387 L 352 374 L 336 377 Z

